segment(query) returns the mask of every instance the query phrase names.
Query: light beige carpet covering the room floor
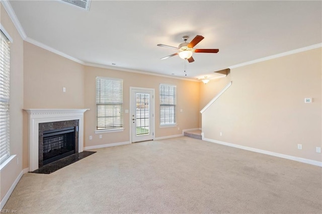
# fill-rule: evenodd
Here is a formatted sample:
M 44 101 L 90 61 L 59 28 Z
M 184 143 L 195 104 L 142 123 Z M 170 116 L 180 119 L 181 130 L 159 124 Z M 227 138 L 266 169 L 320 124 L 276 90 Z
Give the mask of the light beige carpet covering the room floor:
M 24 174 L 18 213 L 321 213 L 322 169 L 188 137 L 96 149 Z

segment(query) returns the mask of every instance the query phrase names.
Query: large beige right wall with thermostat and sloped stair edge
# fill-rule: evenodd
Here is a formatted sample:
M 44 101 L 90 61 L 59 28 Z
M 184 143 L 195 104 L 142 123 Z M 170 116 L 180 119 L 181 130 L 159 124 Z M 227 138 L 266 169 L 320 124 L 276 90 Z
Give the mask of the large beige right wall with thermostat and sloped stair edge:
M 202 115 L 205 138 L 321 161 L 321 72 L 321 48 L 232 69 Z

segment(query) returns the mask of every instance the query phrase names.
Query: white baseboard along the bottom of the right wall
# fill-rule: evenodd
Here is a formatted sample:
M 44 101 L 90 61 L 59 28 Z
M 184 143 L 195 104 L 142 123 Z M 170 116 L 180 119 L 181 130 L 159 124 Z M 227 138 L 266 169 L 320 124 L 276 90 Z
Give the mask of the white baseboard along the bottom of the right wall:
M 290 156 L 290 155 L 284 155 L 284 154 L 280 154 L 280 153 L 276 153 L 276 152 L 270 152 L 270 151 L 266 151 L 266 150 L 262 150 L 262 149 L 255 149 L 255 148 L 252 148 L 252 147 L 241 146 L 241 145 L 227 143 L 227 142 L 223 142 L 223 141 L 212 140 L 212 139 L 209 139 L 209 138 L 205 138 L 203 133 L 202 133 L 202 140 L 208 141 L 208 142 L 211 142 L 211 143 L 216 143 L 216 144 L 221 144 L 221 145 L 225 145 L 225 146 L 235 147 L 235 148 L 238 148 L 238 149 L 244 149 L 244 150 L 248 150 L 248 151 L 252 151 L 252 152 L 262 153 L 262 154 L 266 154 L 266 155 L 271 155 L 271 156 L 275 156 L 275 157 L 279 157 L 279 158 L 285 158 L 285 159 L 288 159 L 288 160 L 298 161 L 298 162 L 307 163 L 307 164 L 311 164 L 311 165 L 314 165 L 314 166 L 322 167 L 322 162 L 320 162 L 320 161 L 314 161 L 314 160 L 310 160 L 310 159 L 299 158 L 299 157 Z

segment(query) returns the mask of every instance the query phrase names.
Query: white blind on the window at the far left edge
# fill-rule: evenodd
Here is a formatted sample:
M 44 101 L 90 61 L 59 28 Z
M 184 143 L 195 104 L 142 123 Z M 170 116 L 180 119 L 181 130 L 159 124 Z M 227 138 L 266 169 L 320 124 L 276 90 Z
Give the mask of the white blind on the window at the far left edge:
M 10 156 L 9 145 L 9 88 L 10 42 L 0 31 L 0 163 Z

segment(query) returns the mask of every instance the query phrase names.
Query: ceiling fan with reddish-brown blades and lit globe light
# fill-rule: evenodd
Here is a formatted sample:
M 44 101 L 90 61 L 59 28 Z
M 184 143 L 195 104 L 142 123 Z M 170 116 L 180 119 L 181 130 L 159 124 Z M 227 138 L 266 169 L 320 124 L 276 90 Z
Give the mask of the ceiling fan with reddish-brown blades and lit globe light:
M 184 43 L 181 43 L 178 48 L 169 46 L 169 45 L 163 45 L 158 44 L 157 46 L 165 47 L 165 48 L 173 48 L 178 50 L 177 53 L 171 54 L 169 56 L 163 57 L 161 59 L 168 59 L 172 56 L 179 55 L 182 59 L 187 59 L 188 62 L 194 62 L 195 60 L 192 57 L 193 52 L 195 53 L 218 53 L 219 49 L 194 49 L 195 45 L 197 45 L 201 40 L 204 39 L 203 36 L 197 35 L 190 43 L 187 43 L 188 36 L 183 36 L 182 39 Z

